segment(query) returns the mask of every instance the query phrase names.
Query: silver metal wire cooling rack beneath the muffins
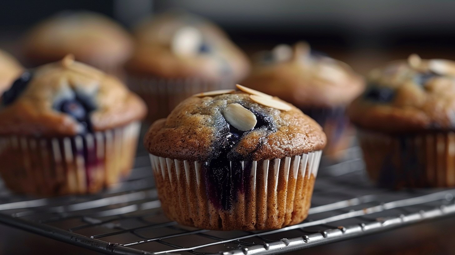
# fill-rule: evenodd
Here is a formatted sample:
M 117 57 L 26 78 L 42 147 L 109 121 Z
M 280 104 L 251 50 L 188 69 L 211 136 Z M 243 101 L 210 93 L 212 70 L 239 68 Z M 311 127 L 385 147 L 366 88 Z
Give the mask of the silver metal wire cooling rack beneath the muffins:
M 87 196 L 32 199 L 0 184 L 0 222 L 108 254 L 278 254 L 455 213 L 455 189 L 394 192 L 368 184 L 359 148 L 321 166 L 308 219 L 271 231 L 213 231 L 169 221 L 145 152 L 131 177 Z

